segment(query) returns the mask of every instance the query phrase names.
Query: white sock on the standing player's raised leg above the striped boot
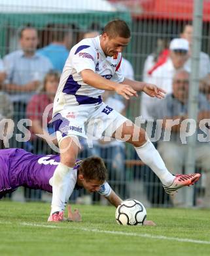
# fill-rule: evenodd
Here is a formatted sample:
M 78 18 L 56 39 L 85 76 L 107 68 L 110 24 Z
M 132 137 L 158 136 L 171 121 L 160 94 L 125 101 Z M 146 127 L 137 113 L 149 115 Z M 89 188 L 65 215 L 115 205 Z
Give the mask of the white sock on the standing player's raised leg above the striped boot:
M 139 146 L 135 150 L 139 158 L 154 171 L 164 185 L 170 186 L 173 183 L 174 176 L 169 173 L 160 154 L 150 140 L 147 140 L 143 146 Z

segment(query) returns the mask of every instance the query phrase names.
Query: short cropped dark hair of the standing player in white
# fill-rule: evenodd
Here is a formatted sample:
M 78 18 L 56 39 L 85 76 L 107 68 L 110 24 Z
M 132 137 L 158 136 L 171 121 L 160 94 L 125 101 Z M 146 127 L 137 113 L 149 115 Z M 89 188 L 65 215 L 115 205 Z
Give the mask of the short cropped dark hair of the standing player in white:
M 103 33 L 107 33 L 110 37 L 130 38 L 131 32 L 128 24 L 124 20 L 112 20 L 103 29 Z

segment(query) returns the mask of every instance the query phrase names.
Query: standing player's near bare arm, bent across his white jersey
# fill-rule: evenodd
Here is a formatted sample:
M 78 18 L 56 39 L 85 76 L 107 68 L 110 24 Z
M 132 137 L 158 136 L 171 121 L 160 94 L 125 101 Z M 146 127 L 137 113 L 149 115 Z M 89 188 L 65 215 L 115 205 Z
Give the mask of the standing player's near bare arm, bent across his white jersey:
M 92 70 L 82 70 L 80 73 L 84 83 L 91 85 L 92 87 L 101 90 L 116 91 L 118 95 L 124 96 L 124 98 L 127 100 L 130 98 L 130 96 L 137 96 L 137 92 L 133 90 L 130 85 L 122 85 L 120 83 L 105 79 Z

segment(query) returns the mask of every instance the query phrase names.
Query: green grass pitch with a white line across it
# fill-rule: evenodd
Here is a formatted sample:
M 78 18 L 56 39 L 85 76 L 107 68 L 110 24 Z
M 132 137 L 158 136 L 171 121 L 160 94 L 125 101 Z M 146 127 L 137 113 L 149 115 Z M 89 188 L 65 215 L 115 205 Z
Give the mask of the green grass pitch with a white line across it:
M 49 203 L 0 202 L 0 255 L 210 255 L 210 211 L 147 209 L 157 226 L 119 226 L 114 207 L 73 205 L 82 223 L 47 223 Z

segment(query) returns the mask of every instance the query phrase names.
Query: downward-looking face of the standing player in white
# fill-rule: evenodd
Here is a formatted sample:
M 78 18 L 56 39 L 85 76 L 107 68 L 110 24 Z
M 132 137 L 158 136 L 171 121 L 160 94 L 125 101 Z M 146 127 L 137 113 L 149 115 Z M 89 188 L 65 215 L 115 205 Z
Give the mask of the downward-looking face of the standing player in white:
M 128 45 L 130 38 L 124 37 L 109 37 L 107 33 L 101 35 L 101 49 L 107 56 L 113 56 L 117 53 L 122 53 L 124 47 Z

